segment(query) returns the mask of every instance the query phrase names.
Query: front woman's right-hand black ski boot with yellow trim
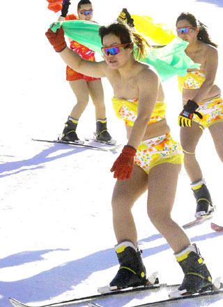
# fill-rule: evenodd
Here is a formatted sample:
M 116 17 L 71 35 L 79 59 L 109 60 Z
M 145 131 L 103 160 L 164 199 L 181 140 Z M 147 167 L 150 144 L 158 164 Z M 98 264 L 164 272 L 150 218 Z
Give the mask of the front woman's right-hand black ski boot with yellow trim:
M 196 244 L 187 246 L 175 257 L 185 274 L 183 283 L 178 287 L 180 295 L 211 290 L 212 278 Z

